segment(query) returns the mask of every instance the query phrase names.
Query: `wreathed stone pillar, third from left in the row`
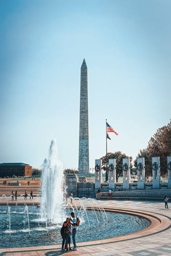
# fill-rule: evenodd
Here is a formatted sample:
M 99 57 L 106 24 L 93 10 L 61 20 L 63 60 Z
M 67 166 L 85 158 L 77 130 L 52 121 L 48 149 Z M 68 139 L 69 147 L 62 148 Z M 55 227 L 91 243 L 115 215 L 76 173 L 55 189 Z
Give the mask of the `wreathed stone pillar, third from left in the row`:
M 130 159 L 123 158 L 123 191 L 130 189 Z

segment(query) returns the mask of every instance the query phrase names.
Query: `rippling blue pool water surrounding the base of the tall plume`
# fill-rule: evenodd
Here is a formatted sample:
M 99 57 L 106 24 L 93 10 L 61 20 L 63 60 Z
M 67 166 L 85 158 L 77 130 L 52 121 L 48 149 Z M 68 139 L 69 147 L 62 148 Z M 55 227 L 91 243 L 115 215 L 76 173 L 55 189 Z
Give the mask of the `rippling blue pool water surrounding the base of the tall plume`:
M 71 210 L 67 209 L 66 216 L 69 216 L 70 212 Z M 99 214 L 96 211 L 97 222 L 93 211 L 87 211 L 86 216 L 84 212 L 82 213 L 83 215 L 79 216 L 81 223 L 77 231 L 77 242 L 124 236 L 151 225 L 150 220 L 130 214 L 106 212 L 107 218 L 104 218 L 102 213 Z M 28 230 L 28 216 L 30 230 Z M 47 223 L 46 225 L 46 222 L 41 221 L 40 208 L 37 207 L 28 206 L 28 216 L 24 206 L 18 206 L 17 209 L 15 206 L 10 206 L 9 225 L 8 208 L 0 206 L 0 223 L 2 223 L 0 226 L 0 248 L 61 244 L 60 228 L 62 223 Z

